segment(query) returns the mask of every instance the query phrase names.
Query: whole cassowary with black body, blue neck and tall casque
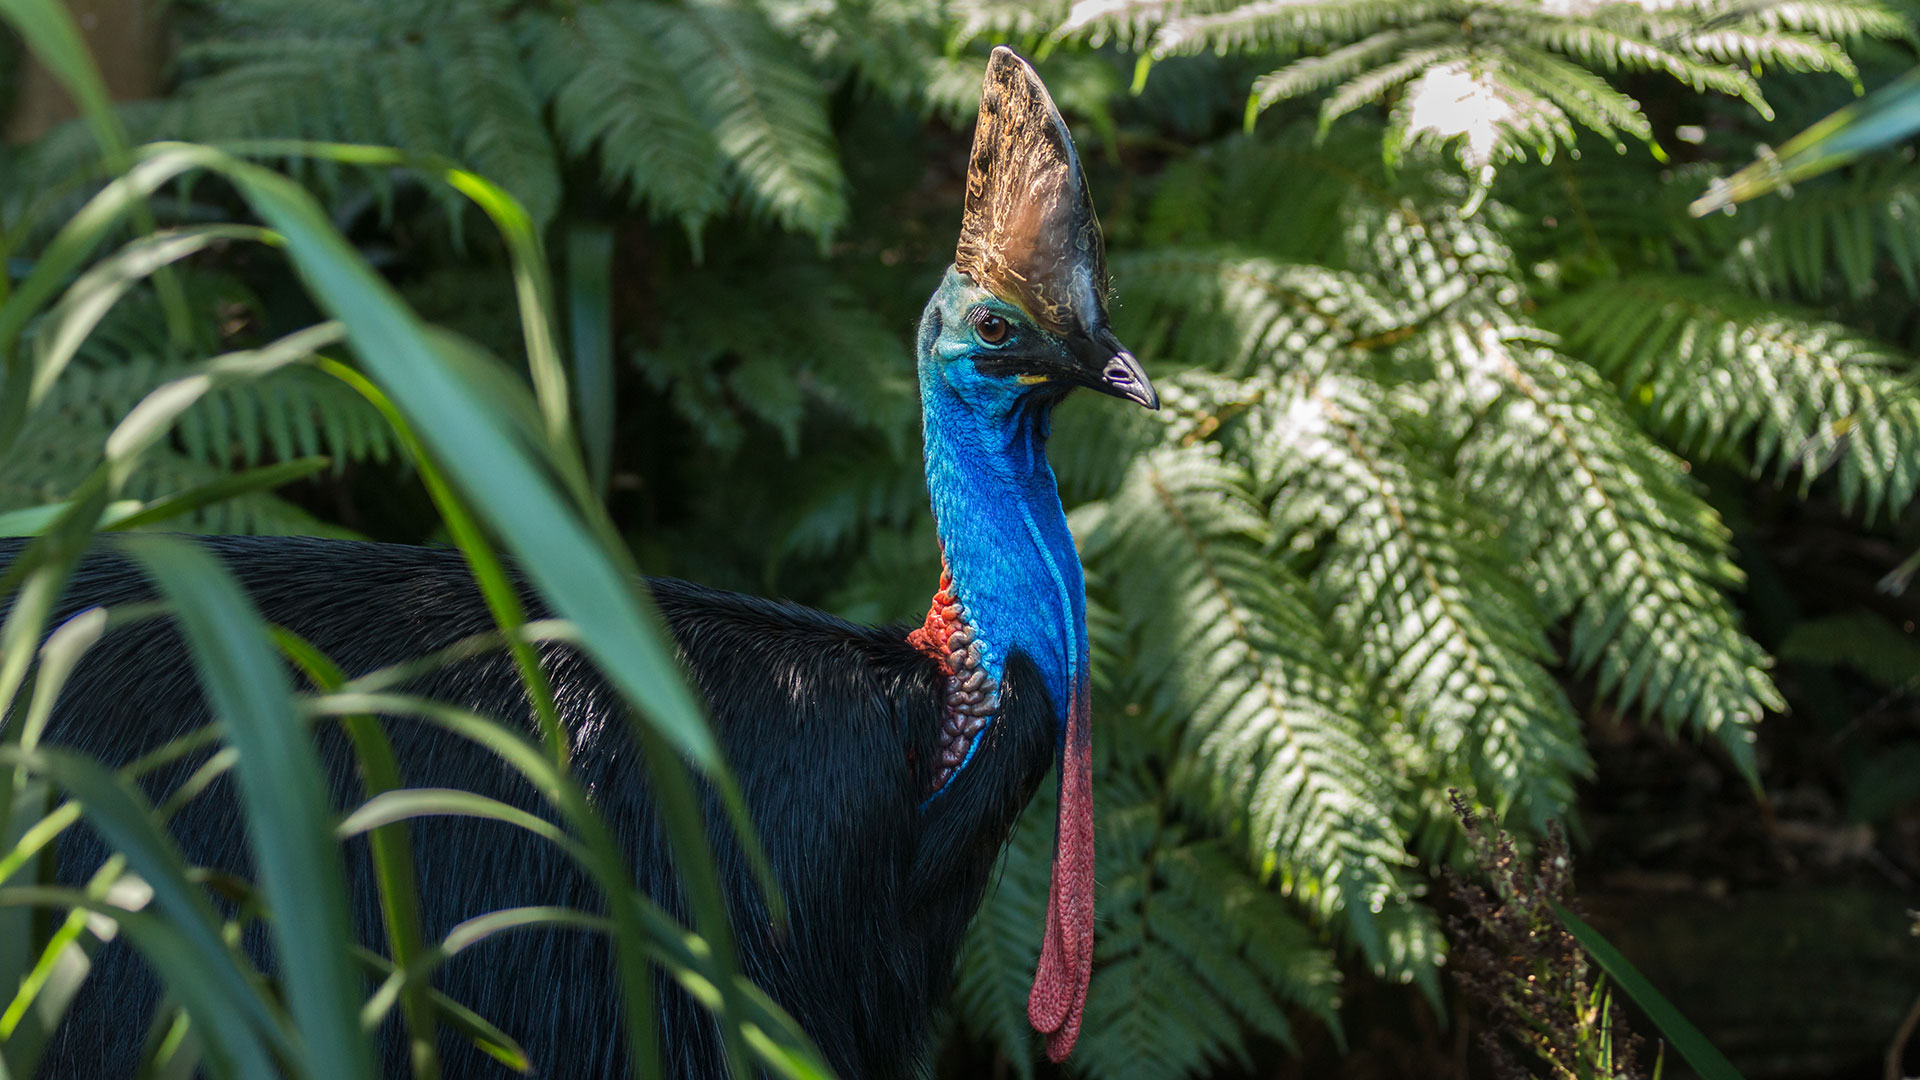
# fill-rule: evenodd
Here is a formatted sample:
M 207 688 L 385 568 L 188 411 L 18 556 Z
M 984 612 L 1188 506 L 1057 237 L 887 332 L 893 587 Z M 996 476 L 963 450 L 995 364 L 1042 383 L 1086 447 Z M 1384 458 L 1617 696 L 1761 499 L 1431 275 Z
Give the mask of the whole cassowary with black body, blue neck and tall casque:
M 1039 77 L 998 48 L 987 67 L 954 265 L 920 321 L 925 471 L 945 573 L 918 628 L 868 628 L 804 607 L 655 580 L 653 596 L 705 698 L 789 907 L 776 934 L 743 857 L 720 842 L 747 976 L 814 1038 L 841 1076 L 925 1072 L 933 1017 L 993 863 L 1048 765 L 1060 765 L 1052 890 L 1029 1019 L 1064 1059 L 1092 967 L 1091 701 L 1081 565 L 1046 463 L 1052 407 L 1075 386 L 1158 396 L 1106 319 L 1106 259 L 1066 123 Z M 420 657 L 492 628 L 451 550 L 332 540 L 204 542 L 271 623 L 348 673 Z M 0 565 L 19 542 L 0 542 Z M 61 615 L 152 598 L 111 550 L 88 555 Z M 528 594 L 528 603 L 538 600 Z M 618 698 L 580 653 L 541 655 L 572 765 L 612 824 L 639 884 L 674 907 L 678 890 Z M 490 653 L 420 676 L 415 692 L 488 715 L 526 717 L 513 663 Z M 194 669 L 165 623 L 117 630 L 69 680 L 48 732 L 127 763 L 209 723 Z M 532 723 L 532 721 L 528 721 Z M 388 723 L 411 786 L 468 788 L 543 813 L 497 759 L 436 728 Z M 317 734 L 338 805 L 355 801 L 353 755 Z M 198 761 L 156 776 L 165 792 Z M 236 794 L 217 782 L 175 817 L 188 861 L 246 874 Z M 708 807 L 712 809 L 712 807 Z M 411 826 L 422 922 L 438 938 L 511 905 L 593 909 L 595 890 L 553 846 L 474 819 Z M 84 880 L 104 849 L 73 830 L 58 874 Z M 378 944 L 365 846 L 349 846 L 361 932 Z M 267 940 L 248 942 L 255 955 Z M 263 961 L 269 963 L 269 961 Z M 440 990 L 530 1051 L 540 1076 L 628 1068 L 605 940 L 534 930 L 457 955 Z M 129 1076 L 161 980 L 129 947 L 100 951 L 56 1034 L 44 1076 Z M 660 984 L 668 1076 L 724 1072 L 716 1026 Z M 390 1022 L 384 1061 L 405 1074 Z M 447 1076 L 499 1067 L 457 1040 Z

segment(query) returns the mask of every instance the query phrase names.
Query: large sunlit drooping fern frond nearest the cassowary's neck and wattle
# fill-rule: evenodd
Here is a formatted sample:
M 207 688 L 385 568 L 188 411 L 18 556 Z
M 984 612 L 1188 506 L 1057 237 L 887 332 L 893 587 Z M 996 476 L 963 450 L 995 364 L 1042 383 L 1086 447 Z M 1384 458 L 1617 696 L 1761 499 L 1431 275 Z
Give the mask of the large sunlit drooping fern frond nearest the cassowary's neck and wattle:
M 1394 780 L 1356 719 L 1306 586 L 1273 565 L 1263 507 L 1217 448 L 1139 461 L 1087 538 L 1139 632 L 1131 675 L 1202 765 L 1213 805 L 1246 821 L 1254 865 L 1319 919 L 1344 917 L 1382 961 L 1371 913 L 1405 901 Z

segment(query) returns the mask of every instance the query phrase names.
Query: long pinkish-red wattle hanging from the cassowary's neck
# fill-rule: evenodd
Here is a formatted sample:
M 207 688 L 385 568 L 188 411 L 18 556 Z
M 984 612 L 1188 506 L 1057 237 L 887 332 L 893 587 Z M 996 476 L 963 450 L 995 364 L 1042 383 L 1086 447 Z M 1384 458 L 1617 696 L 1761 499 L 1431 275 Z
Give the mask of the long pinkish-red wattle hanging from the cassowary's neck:
M 1027 1022 L 1046 1036 L 1046 1057 L 1066 1061 L 1079 1040 L 1092 978 L 1092 724 L 1087 692 L 1073 694 L 1060 748 L 1060 821 L 1046 934 L 1027 995 Z

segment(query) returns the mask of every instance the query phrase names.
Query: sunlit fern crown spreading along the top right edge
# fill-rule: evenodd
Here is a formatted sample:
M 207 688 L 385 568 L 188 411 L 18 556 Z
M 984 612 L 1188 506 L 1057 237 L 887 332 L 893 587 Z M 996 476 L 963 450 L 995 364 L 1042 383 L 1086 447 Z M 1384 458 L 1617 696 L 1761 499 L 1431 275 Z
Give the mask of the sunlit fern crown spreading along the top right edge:
M 1200 50 L 1302 54 L 1254 83 L 1248 123 L 1284 100 L 1325 92 L 1321 129 L 1369 104 L 1392 106 L 1388 154 L 1455 142 L 1486 184 L 1524 156 L 1551 160 L 1578 131 L 1653 144 L 1640 104 L 1601 73 L 1665 73 L 1695 92 L 1772 110 L 1755 71 L 1830 71 L 1859 83 L 1845 44 L 1901 37 L 1907 19 L 1860 0 L 1809 4 L 1523 6 L 1486 0 L 1127 4 L 1083 0 L 1062 35 L 1117 38 L 1152 58 Z

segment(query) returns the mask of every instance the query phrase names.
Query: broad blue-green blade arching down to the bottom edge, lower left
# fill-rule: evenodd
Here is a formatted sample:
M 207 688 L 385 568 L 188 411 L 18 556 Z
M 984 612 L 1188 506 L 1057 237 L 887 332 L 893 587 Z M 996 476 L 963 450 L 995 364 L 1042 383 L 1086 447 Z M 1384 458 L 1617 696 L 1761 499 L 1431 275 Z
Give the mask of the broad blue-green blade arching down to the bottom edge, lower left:
M 275 944 L 309 1076 L 372 1076 L 359 1032 L 361 978 L 348 949 L 353 919 L 332 838 L 326 784 L 298 721 L 280 657 L 232 577 L 179 540 L 129 540 L 129 553 L 171 601 L 213 715 L 238 749 L 253 865 L 273 907 Z

